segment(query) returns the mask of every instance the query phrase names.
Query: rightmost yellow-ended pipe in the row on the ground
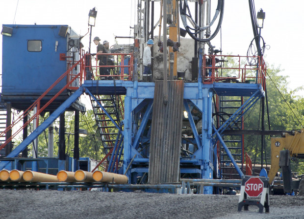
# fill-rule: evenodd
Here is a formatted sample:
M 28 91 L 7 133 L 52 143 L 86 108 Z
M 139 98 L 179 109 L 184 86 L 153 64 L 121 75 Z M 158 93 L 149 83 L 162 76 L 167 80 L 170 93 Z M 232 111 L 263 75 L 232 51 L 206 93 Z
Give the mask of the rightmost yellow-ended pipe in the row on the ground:
M 97 182 L 115 182 L 116 184 L 126 184 L 127 176 L 121 174 L 113 174 L 97 170 L 93 173 L 93 179 Z

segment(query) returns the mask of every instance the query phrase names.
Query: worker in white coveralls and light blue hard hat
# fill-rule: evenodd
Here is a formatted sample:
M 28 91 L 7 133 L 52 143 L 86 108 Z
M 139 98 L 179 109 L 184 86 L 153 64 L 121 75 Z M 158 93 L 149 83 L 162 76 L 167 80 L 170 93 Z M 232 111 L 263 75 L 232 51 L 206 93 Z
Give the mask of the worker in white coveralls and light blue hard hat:
M 143 72 L 143 81 L 144 82 L 153 82 L 152 78 L 152 70 L 151 70 L 151 48 L 153 46 L 153 40 L 148 40 L 147 46 L 144 48 L 143 54 L 143 65 L 144 65 L 144 72 Z

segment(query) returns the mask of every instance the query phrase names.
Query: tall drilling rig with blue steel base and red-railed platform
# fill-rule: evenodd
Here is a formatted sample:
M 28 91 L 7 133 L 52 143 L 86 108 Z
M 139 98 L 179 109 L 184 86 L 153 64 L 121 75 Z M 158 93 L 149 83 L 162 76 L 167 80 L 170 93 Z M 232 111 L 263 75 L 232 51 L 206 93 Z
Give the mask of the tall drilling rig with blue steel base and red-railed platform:
M 211 2 L 216 2 L 216 8 L 211 8 Z M 257 54 L 247 56 L 223 55 L 220 48 L 216 49 L 211 44 L 221 28 L 224 8 L 225 0 L 138 0 L 138 19 L 133 27 L 134 36 L 131 37 L 134 44 L 114 45 L 116 51 L 103 54 L 112 56 L 114 61 L 104 66 L 95 61 L 96 54 L 82 50 L 81 36 L 66 35 L 69 27 L 56 26 L 59 29 L 55 32 L 66 42 L 68 53 L 55 51 L 58 59 L 54 62 L 64 62 L 63 65 L 67 66 L 66 73 L 61 76 L 67 78 L 67 84 L 63 86 L 57 82 L 51 88 L 63 87 L 62 90 L 68 93 L 67 98 L 52 109 L 48 108 L 54 106 L 51 102 L 41 100 L 53 101 L 60 93 L 53 93 L 54 98 L 46 98 L 46 93 L 43 93 L 33 106 L 27 104 L 20 107 L 18 101 L 12 103 L 13 108 L 24 111 L 20 121 L 25 121 L 27 112 L 37 106 L 38 110 L 28 119 L 29 122 L 46 110 L 51 115 L 35 131 L 25 136 L 13 151 L 8 150 L 6 157 L 0 161 L 0 169 L 9 169 L 13 165 L 18 167 L 20 161 L 16 157 L 59 116 L 63 129 L 62 114 L 74 106 L 73 103 L 85 92 L 90 96 L 106 154 L 100 164 L 105 163 L 106 172 L 126 175 L 130 185 L 125 189 L 139 184 L 148 190 L 156 188 L 168 191 L 170 188 L 180 189 L 178 183 L 183 179 L 192 182 L 240 179 L 246 174 L 246 168 L 244 135 L 239 131 L 245 129 L 246 113 L 265 96 L 266 64 L 259 40 L 256 40 Z M 96 18 L 97 12 L 93 13 L 94 10 L 92 13 L 90 11 L 89 16 Z M 194 11 L 195 17 L 192 17 L 191 11 Z M 255 13 L 251 14 L 256 38 Z M 18 34 L 20 26 L 6 26 L 12 29 L 12 35 L 3 36 L 3 45 L 12 43 L 14 37 L 21 37 Z M 154 43 L 153 82 L 145 82 L 142 77 L 143 51 L 148 40 Z M 55 46 L 60 46 L 56 40 L 53 41 Z M 34 42 L 35 49 L 41 47 L 39 42 Z M 70 51 L 71 48 L 77 50 L 79 57 Z M 10 48 L 3 46 L 4 49 L 6 52 Z M 9 59 L 9 56 L 6 57 Z M 228 57 L 237 60 L 239 66 L 229 68 L 226 65 Z M 248 60 L 249 64 L 241 66 L 243 61 Z M 109 69 L 111 75 L 101 75 L 100 68 Z M 8 73 L 3 71 L 2 77 L 8 77 Z M 38 71 L 33 73 L 37 74 Z M 3 79 L 3 88 L 10 88 L 5 83 Z M 4 103 L 15 98 L 5 89 L 2 92 L 6 97 Z M 25 122 L 23 128 L 27 125 Z M 1 136 L 10 133 L 11 127 L 9 124 Z M 228 134 L 227 131 L 232 133 Z M 11 142 L 9 135 L 0 149 Z M 64 134 L 60 139 L 64 139 Z M 65 145 L 59 143 L 59 154 L 58 160 L 52 161 L 58 171 L 80 168 L 77 155 L 79 146 L 74 151 L 76 155 L 67 159 Z M 49 161 L 45 159 L 41 162 Z M 71 163 L 74 164 L 73 168 Z M 39 167 L 35 168 L 39 171 Z M 123 190 L 122 187 L 115 188 Z M 203 194 L 216 193 L 210 185 L 198 184 L 196 190 Z

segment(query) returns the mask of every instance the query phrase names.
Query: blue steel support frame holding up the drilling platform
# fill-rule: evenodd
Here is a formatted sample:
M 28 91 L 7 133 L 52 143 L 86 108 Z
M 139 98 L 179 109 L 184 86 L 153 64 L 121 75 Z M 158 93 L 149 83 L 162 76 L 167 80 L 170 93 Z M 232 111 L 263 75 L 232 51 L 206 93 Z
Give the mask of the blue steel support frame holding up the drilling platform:
M 14 34 L 17 34 L 18 28 L 15 28 L 16 31 Z M 52 28 L 51 26 L 47 28 L 50 28 L 51 33 L 58 30 L 56 28 Z M 6 47 L 4 47 L 4 50 L 5 48 Z M 54 50 L 54 47 L 52 47 L 52 50 Z M 204 56 L 202 52 L 203 50 L 200 49 L 199 72 L 204 72 L 205 70 L 203 68 Z M 54 59 L 58 60 L 59 58 L 59 54 L 54 55 Z M 134 72 L 137 72 L 136 61 L 137 60 L 134 60 Z M 83 65 L 83 62 L 79 63 L 80 69 L 85 69 L 85 67 L 87 67 L 84 67 Z M 60 69 L 63 69 L 64 66 L 66 66 L 65 63 L 60 65 Z M 212 66 L 207 67 L 208 69 L 212 68 Z M 57 70 L 60 71 L 59 69 Z M 62 73 L 64 71 L 65 70 L 60 72 Z M 82 72 L 80 73 L 82 74 Z M 231 153 L 229 153 L 228 147 L 226 147 L 225 142 L 222 139 L 222 133 L 225 129 L 228 128 L 228 126 L 233 124 L 234 121 L 241 119 L 242 116 L 244 116 L 244 114 L 246 114 L 246 112 L 262 96 L 264 96 L 263 87 L 261 83 L 229 84 L 210 80 L 204 81 L 202 75 L 202 73 L 199 74 L 197 82 L 186 82 L 184 85 L 184 109 L 188 114 L 187 120 L 190 124 L 192 134 L 182 138 L 182 144 L 189 144 L 189 149 L 186 150 L 186 155 L 180 155 L 180 174 L 197 179 L 213 179 L 218 177 L 219 168 L 217 162 L 218 154 L 216 145 L 217 141 L 219 140 L 228 153 L 228 156 L 231 159 L 231 162 L 234 164 L 238 174 L 243 175 L 242 171 L 235 163 L 233 156 Z M 208 74 L 208 76 L 210 77 L 210 74 Z M 215 77 L 214 66 L 211 70 L 211 76 Z M 10 85 L 12 84 L 12 81 L 10 81 L 8 77 L 5 80 L 3 79 L 3 91 L 14 91 L 14 88 L 6 86 L 6 83 L 7 85 Z M 44 88 L 45 86 L 48 87 L 47 85 L 41 86 Z M 58 88 L 61 86 L 62 85 L 60 84 L 57 85 Z M 56 118 L 58 118 L 58 116 L 62 114 L 66 109 L 68 109 L 84 92 L 95 99 L 96 102 L 98 101 L 96 100 L 95 95 L 125 95 L 125 117 L 122 124 L 117 124 L 113 119 L 111 119 L 119 131 L 113 151 L 108 156 L 109 165 L 107 171 L 126 174 L 129 178 L 129 183 L 131 184 L 140 184 L 142 182 L 146 182 L 147 173 L 149 173 L 149 143 L 151 134 L 150 124 L 153 110 L 154 83 L 139 82 L 136 80 L 135 76 L 133 77 L 132 81 L 100 81 L 94 80 L 94 78 L 93 80 L 90 80 L 88 78 L 88 80 L 85 80 L 82 85 L 80 85 L 79 88 L 73 92 L 73 94 L 67 97 L 67 99 L 59 107 L 57 107 L 52 112 L 52 114 L 7 157 L 17 157 L 35 138 L 38 137 L 40 133 L 47 129 L 51 123 Z M 215 94 L 218 96 L 247 97 L 247 100 L 244 102 L 244 104 L 238 110 L 236 110 L 235 113 L 233 113 L 223 125 L 218 128 L 214 126 L 214 120 L 212 116 L 215 104 L 212 97 Z M 99 105 L 101 109 L 107 114 L 107 116 L 111 118 L 110 113 L 107 112 L 102 104 Z M 191 106 L 191 108 L 189 106 Z M 201 114 L 202 131 L 198 131 L 196 127 L 195 116 L 191 111 L 193 108 L 198 110 Z M 124 157 L 123 165 L 121 167 L 119 165 L 115 166 L 115 162 L 117 163 L 117 160 L 119 161 L 122 155 Z M 1 161 L 0 170 L 6 168 L 9 165 L 9 162 L 10 161 Z M 65 169 L 64 160 L 59 161 L 58 169 Z M 212 194 L 212 187 L 205 186 L 204 193 Z

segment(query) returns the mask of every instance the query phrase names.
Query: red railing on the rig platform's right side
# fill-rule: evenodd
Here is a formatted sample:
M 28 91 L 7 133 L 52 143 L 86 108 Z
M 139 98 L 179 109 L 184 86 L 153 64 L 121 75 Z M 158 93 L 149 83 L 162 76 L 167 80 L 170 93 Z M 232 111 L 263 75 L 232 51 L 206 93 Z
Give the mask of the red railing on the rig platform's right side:
M 223 64 L 217 64 L 227 62 L 227 60 L 224 61 L 227 57 L 232 57 L 234 61 L 238 63 L 238 66 L 225 67 Z M 258 64 L 241 67 L 242 63 L 246 63 L 247 59 L 257 59 Z M 265 88 L 266 69 L 267 66 L 263 57 L 259 56 L 204 55 L 202 78 L 204 84 L 231 81 L 239 83 L 257 83 Z

